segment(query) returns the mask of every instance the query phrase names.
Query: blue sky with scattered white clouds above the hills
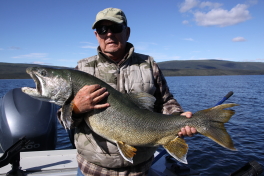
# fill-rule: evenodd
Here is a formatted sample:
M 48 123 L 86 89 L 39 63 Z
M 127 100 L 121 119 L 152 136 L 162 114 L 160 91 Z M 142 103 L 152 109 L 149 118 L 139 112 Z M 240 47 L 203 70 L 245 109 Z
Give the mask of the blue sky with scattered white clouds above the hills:
M 157 62 L 264 62 L 264 0 L 1 0 L 0 62 L 75 67 L 96 54 L 91 26 L 108 7 Z

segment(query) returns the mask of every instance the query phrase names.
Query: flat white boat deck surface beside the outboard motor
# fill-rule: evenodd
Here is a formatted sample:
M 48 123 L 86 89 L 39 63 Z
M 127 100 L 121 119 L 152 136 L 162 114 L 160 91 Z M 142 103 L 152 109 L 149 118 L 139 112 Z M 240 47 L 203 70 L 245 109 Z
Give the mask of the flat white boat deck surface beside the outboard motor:
M 30 176 L 76 176 L 76 149 L 21 152 L 20 167 Z M 0 168 L 0 176 L 11 170 L 11 164 Z

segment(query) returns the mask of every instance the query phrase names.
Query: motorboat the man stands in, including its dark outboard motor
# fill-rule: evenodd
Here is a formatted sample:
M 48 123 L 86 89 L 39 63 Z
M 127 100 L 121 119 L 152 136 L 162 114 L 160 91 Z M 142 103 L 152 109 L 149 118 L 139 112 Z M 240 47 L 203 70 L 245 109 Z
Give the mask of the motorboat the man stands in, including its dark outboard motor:
M 221 101 L 227 98 L 225 96 Z M 0 176 L 76 175 L 76 149 L 55 150 L 57 110 L 57 105 L 33 99 L 20 88 L 12 89 L 0 98 Z M 72 139 L 72 132 L 68 131 L 68 134 Z M 154 156 L 149 176 L 200 175 L 179 164 L 162 149 Z M 262 172 L 257 162 L 248 163 L 241 169 L 246 174 Z M 242 171 L 231 176 L 239 176 Z

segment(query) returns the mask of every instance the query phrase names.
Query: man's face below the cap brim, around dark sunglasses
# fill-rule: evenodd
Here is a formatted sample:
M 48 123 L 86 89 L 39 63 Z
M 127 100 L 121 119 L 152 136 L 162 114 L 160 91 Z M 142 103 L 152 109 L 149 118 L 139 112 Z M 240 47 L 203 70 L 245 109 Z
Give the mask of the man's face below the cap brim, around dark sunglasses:
M 116 23 L 104 20 L 98 26 L 110 26 L 113 24 Z M 98 34 L 96 31 L 94 33 L 104 54 L 114 60 L 122 59 L 118 57 L 123 57 L 125 52 L 126 42 L 130 35 L 129 27 L 123 29 L 120 33 L 112 33 L 111 29 L 108 29 L 106 34 Z

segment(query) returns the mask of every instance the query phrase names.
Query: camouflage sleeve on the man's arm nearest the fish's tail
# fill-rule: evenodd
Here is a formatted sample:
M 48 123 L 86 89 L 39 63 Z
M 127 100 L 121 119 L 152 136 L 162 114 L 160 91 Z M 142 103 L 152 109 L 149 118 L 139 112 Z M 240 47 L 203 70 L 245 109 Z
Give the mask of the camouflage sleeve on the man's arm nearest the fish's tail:
M 156 92 L 154 94 L 156 98 L 155 110 L 163 114 L 184 112 L 180 104 L 170 93 L 166 79 L 156 62 L 153 62 L 152 68 L 156 86 Z

